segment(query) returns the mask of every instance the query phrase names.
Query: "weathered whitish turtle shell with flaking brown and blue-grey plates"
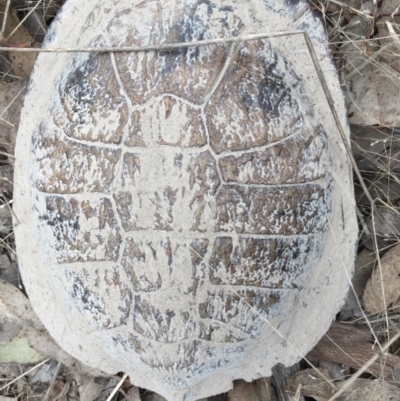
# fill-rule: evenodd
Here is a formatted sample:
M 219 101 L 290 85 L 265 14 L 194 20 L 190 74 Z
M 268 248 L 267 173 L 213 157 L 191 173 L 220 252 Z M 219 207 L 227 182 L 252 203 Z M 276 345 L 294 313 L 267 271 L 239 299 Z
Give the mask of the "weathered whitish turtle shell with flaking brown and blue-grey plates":
M 326 57 L 305 1 L 69 0 L 46 46 L 300 28 Z M 344 299 L 351 173 L 301 35 L 42 54 L 16 154 L 33 307 L 73 356 L 170 401 L 296 362 Z

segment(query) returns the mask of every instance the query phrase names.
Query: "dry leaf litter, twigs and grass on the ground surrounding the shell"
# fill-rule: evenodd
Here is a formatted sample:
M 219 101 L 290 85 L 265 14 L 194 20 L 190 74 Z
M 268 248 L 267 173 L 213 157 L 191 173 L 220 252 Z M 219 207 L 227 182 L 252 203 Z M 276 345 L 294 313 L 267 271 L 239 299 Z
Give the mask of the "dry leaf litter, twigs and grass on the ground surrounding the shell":
M 63 2 L 0 0 L 2 45 L 39 47 Z M 271 378 L 239 380 L 208 401 L 400 400 L 400 0 L 309 3 L 325 22 L 353 155 L 374 201 L 355 179 L 360 244 L 353 288 L 306 358 L 324 378 L 305 359 L 277 366 Z M 23 293 L 11 224 L 13 149 L 35 58 L 0 54 L 0 401 L 162 401 L 122 374 L 106 375 L 67 355 Z

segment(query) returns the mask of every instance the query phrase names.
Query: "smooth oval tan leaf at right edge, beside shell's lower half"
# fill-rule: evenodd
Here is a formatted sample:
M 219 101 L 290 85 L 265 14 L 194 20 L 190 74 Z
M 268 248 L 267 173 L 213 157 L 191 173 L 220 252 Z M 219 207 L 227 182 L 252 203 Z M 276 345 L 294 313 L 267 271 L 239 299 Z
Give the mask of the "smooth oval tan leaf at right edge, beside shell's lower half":
M 385 300 L 385 302 L 384 302 Z M 364 308 L 377 313 L 400 306 L 400 245 L 396 245 L 381 259 L 368 281 L 363 297 Z

